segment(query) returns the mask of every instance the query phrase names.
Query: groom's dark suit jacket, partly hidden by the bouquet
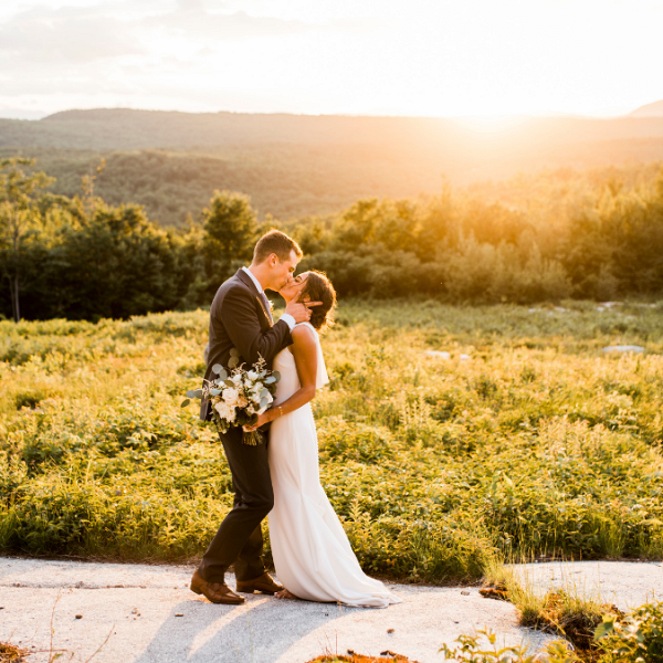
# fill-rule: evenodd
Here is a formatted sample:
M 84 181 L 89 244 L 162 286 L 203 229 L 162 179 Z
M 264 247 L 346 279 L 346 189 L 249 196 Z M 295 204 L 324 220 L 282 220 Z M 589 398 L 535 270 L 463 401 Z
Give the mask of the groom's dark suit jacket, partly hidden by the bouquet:
M 240 364 L 251 368 L 259 356 L 271 368 L 274 357 L 291 345 L 287 323 L 270 322 L 270 314 L 257 288 L 249 274 L 239 270 L 217 291 L 210 309 L 210 347 L 204 379 L 213 379 L 212 366 L 220 364 L 228 368 L 230 350 L 238 348 Z M 212 418 L 210 402 L 202 400 L 200 419 Z

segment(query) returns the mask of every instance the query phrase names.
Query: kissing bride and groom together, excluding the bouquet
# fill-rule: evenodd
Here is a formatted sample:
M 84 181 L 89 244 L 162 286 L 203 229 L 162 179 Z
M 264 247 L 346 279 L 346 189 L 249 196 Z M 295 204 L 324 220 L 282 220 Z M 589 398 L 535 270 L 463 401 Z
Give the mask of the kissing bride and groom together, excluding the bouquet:
M 210 309 L 206 380 L 212 367 L 228 367 L 231 350 L 249 366 L 262 357 L 281 373 L 274 404 L 250 430 L 271 424 L 263 444 L 244 444 L 242 428 L 219 433 L 232 474 L 234 504 L 193 572 L 191 590 L 213 603 L 243 603 L 225 585 L 234 565 L 236 591 L 278 598 L 386 608 L 399 603 L 379 580 L 364 573 L 323 486 L 311 401 L 329 379 L 318 334 L 336 306 L 329 280 L 318 272 L 294 276 L 302 250 L 271 230 L 242 267 L 217 291 Z M 277 291 L 285 313 L 274 323 L 265 290 Z M 200 418 L 211 420 L 211 402 Z M 269 514 L 276 576 L 263 559 L 261 522 Z

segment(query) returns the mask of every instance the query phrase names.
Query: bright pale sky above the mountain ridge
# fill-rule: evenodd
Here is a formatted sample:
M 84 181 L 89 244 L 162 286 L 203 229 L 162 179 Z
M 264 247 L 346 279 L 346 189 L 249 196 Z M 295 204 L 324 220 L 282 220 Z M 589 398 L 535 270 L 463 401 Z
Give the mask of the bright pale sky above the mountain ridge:
M 0 0 L 0 116 L 614 116 L 663 99 L 663 0 Z

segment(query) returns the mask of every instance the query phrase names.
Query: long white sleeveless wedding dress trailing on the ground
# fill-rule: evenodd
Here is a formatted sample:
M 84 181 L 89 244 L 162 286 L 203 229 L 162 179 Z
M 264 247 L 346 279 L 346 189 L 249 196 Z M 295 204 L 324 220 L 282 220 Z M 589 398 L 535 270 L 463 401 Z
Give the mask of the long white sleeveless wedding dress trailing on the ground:
M 316 388 L 329 379 L 317 332 Z M 301 387 L 295 358 L 288 348 L 274 359 L 281 373 L 275 404 Z M 270 471 L 274 508 L 270 512 L 270 540 L 278 580 L 301 599 L 346 606 L 386 608 L 400 603 L 379 580 L 364 573 L 338 516 L 323 486 L 311 403 L 276 419 L 270 432 Z

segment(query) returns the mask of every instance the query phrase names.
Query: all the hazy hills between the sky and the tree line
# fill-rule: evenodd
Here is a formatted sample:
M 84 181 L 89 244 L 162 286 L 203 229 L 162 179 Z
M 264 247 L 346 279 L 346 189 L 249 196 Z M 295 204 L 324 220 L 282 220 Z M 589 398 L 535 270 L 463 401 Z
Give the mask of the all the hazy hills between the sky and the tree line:
M 659 103 L 663 106 L 663 102 Z M 650 104 L 636 110 L 644 112 Z M 251 194 L 281 219 L 334 212 L 364 197 L 411 197 L 540 168 L 663 160 L 661 116 L 481 120 L 415 117 L 66 110 L 0 119 L 0 156 L 23 154 L 73 194 L 101 157 L 97 191 L 181 223 L 214 189 Z

